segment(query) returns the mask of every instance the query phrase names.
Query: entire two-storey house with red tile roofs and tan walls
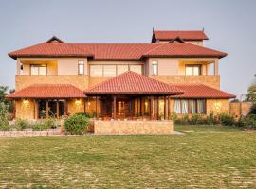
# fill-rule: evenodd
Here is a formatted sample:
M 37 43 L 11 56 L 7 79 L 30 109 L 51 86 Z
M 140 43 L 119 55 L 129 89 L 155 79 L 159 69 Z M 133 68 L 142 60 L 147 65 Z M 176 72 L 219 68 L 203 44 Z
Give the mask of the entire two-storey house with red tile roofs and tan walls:
M 76 112 L 108 119 L 170 119 L 229 112 L 219 60 L 204 31 L 154 31 L 152 43 L 66 43 L 52 37 L 9 53 L 16 60 L 17 118 Z

